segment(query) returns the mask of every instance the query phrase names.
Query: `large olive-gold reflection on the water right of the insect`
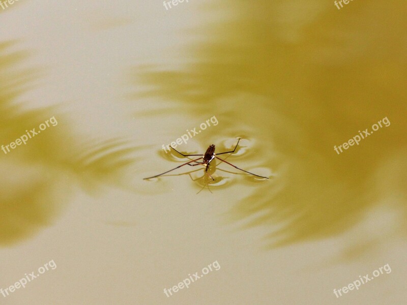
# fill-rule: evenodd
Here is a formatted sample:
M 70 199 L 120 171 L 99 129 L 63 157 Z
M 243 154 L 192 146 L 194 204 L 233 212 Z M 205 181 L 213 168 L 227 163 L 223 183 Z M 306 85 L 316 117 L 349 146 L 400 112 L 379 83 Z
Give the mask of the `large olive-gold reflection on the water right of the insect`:
M 245 134 L 261 143 L 256 158 L 276 176 L 240 200 L 231 221 L 270 225 L 268 245 L 276 247 L 341 233 L 380 199 L 407 216 L 405 5 L 354 2 L 346 12 L 324 1 L 219 6 L 214 14 L 235 17 L 198 30 L 207 39 L 184 49 L 188 64 L 139 67 L 137 77 L 153 86 L 141 96 L 182 102 L 173 111 L 216 114 L 217 139 Z M 334 145 L 384 117 L 389 127 L 335 153 Z M 396 183 L 383 184 L 390 177 Z M 389 201 L 393 192 L 403 200 Z

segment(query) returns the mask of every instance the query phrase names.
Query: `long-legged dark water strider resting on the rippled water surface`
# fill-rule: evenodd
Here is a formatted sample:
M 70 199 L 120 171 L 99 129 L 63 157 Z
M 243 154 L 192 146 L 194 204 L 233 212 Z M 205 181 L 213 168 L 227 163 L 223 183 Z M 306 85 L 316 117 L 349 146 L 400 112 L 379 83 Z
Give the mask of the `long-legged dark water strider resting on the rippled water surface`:
M 209 167 L 210 163 L 212 162 L 212 160 L 214 160 L 215 158 L 216 158 L 216 159 L 219 159 L 220 161 L 222 161 L 222 162 L 224 162 L 224 163 L 226 163 L 226 164 L 229 164 L 230 166 L 233 166 L 233 167 L 236 168 L 236 169 L 239 169 L 239 170 L 241 170 L 241 171 L 244 171 L 244 172 L 246 172 L 246 173 L 248 173 L 248 174 L 251 174 L 251 175 L 253 175 L 253 176 L 257 176 L 257 177 L 260 177 L 260 178 L 266 178 L 266 179 L 268 179 L 269 177 L 264 177 L 264 176 L 260 176 L 260 175 L 253 174 L 253 173 L 251 173 L 251 172 L 248 172 L 247 170 L 241 169 L 241 168 L 239 168 L 239 167 L 237 167 L 237 166 L 235 166 L 235 165 L 233 165 L 233 164 L 231 164 L 231 163 L 225 161 L 224 159 L 221 159 L 221 158 L 217 157 L 218 155 L 224 155 L 224 154 L 232 154 L 232 153 L 235 153 L 235 150 L 236 150 L 236 148 L 238 147 L 239 141 L 240 141 L 240 138 L 239 138 L 239 140 L 238 140 L 238 143 L 236 143 L 236 146 L 235 146 L 235 148 L 234 148 L 233 150 L 225 151 L 224 153 L 219 153 L 219 154 L 215 154 L 215 145 L 214 145 L 214 144 L 209 145 L 207 151 L 205 151 L 205 154 L 203 154 L 203 155 L 184 155 L 184 154 L 180 153 L 177 149 L 175 149 L 175 148 L 173 148 L 172 146 L 170 146 L 173 150 L 177 151 L 178 154 L 180 154 L 180 155 L 182 155 L 182 156 L 184 156 L 184 157 L 186 157 L 186 158 L 188 158 L 188 157 L 196 157 L 196 156 L 199 156 L 199 158 L 194 159 L 194 160 L 188 158 L 188 159 L 190 159 L 191 161 L 188 161 L 188 162 L 186 162 L 186 163 L 184 163 L 184 164 L 181 164 L 181 165 L 179 165 L 179 166 L 177 166 L 177 167 L 175 167 L 175 168 L 173 168 L 173 169 L 167 170 L 166 172 L 163 172 L 163 173 L 161 173 L 161 174 L 144 178 L 144 180 L 146 180 L 146 179 L 151 179 L 151 178 L 155 178 L 155 177 L 159 177 L 159 176 L 161 176 L 161 175 L 163 175 L 163 174 L 166 174 L 166 173 L 168 173 L 168 172 L 170 172 L 170 171 L 176 170 L 177 168 L 180 168 L 180 167 L 185 166 L 185 165 L 189 165 L 189 166 L 196 166 L 196 165 L 200 165 L 200 164 L 201 164 L 201 165 L 204 165 L 204 166 L 206 167 L 206 168 L 205 168 L 205 173 L 208 173 L 208 167 Z M 201 160 L 201 159 L 202 159 L 202 161 L 201 161 L 201 162 L 198 162 L 198 160 Z M 191 164 L 191 163 L 193 163 L 193 164 Z M 215 180 L 212 176 L 211 176 L 211 178 L 212 178 L 212 180 Z

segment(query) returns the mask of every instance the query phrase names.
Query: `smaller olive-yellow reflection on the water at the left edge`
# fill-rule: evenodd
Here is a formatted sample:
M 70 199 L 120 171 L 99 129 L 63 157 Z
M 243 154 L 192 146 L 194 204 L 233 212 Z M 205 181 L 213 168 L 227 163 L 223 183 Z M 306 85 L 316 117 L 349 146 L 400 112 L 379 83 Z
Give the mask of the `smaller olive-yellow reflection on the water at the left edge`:
M 0 244 L 8 245 L 51 225 L 71 188 L 79 184 L 95 192 L 102 183 L 125 187 L 125 170 L 134 162 L 134 148 L 121 139 L 85 139 L 70 132 L 70 122 L 56 107 L 24 110 L 17 98 L 33 86 L 38 69 L 26 69 L 27 52 L 16 43 L 0 43 L 0 145 L 10 145 L 47 119 L 41 134 L 26 144 L 0 150 Z M 56 123 L 56 124 L 55 124 Z M 26 132 L 28 131 L 28 133 Z

